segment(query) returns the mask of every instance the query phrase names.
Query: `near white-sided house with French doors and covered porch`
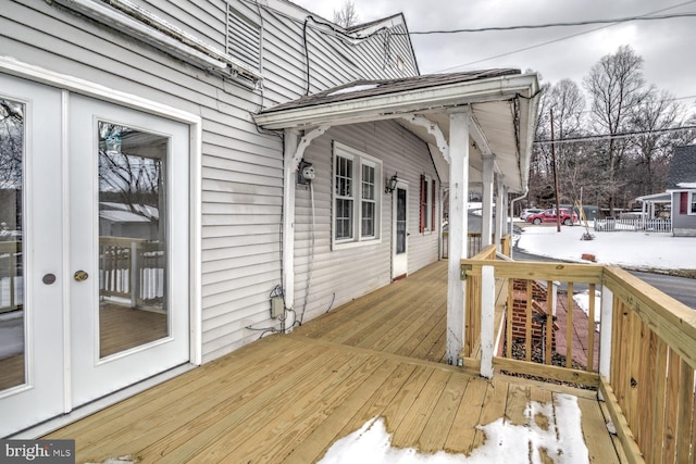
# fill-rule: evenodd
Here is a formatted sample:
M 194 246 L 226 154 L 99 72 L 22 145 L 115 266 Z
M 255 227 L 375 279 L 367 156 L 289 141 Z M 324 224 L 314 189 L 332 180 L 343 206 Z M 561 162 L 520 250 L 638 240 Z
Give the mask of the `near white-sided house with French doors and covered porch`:
M 10 311 L 24 347 L 0 359 L 0 437 L 75 421 L 436 261 L 444 189 L 456 359 L 469 185 L 488 205 L 495 187 L 497 211 L 526 189 L 538 83 L 420 76 L 407 32 L 400 14 L 344 30 L 285 0 L 4 2 L 0 148 L 21 153 L 12 273 L 26 284 Z M 147 231 L 100 228 L 123 220 L 116 190 L 158 212 Z M 161 294 L 142 293 L 144 275 L 163 276 Z

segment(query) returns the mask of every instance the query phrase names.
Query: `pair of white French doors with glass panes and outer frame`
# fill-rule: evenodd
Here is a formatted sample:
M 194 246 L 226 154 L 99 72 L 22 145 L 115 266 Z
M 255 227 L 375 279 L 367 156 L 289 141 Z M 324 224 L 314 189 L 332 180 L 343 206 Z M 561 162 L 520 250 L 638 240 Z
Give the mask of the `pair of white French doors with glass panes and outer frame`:
M 2 437 L 189 360 L 189 129 L 5 75 L 0 109 Z

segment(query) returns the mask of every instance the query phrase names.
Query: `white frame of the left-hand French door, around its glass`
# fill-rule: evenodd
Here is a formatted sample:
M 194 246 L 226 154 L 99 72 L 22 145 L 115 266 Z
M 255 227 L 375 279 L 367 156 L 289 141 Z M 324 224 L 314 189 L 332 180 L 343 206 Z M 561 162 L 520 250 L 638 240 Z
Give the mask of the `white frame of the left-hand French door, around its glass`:
M 63 412 L 65 371 L 63 308 L 66 301 L 62 281 L 65 241 L 61 191 L 63 170 L 60 156 L 61 91 L 35 83 L 2 77 L 0 97 L 24 105 L 24 156 L 22 163 L 22 254 L 24 287 L 23 363 L 24 383 L 0 391 L 0 437 L 28 427 Z M 45 205 L 44 209 L 34 208 Z M 46 234 L 50 230 L 51 234 Z M 42 277 L 55 276 L 45 284 Z M 8 421 L 11 418 L 11 421 Z

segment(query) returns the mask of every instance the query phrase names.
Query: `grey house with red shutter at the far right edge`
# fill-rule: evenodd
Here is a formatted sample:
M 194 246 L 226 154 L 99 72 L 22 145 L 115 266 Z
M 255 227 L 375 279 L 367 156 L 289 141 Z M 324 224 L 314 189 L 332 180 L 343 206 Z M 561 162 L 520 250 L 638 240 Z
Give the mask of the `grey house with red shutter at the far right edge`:
M 672 199 L 672 233 L 696 237 L 696 146 L 676 147 L 670 162 L 667 193 Z

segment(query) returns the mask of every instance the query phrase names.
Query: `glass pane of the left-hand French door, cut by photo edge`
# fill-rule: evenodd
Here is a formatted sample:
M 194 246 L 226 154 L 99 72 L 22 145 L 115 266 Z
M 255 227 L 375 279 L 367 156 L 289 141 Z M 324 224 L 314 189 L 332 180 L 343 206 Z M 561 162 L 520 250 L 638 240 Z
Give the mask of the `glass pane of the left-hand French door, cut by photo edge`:
M 0 98 L 0 390 L 26 383 L 23 103 Z

